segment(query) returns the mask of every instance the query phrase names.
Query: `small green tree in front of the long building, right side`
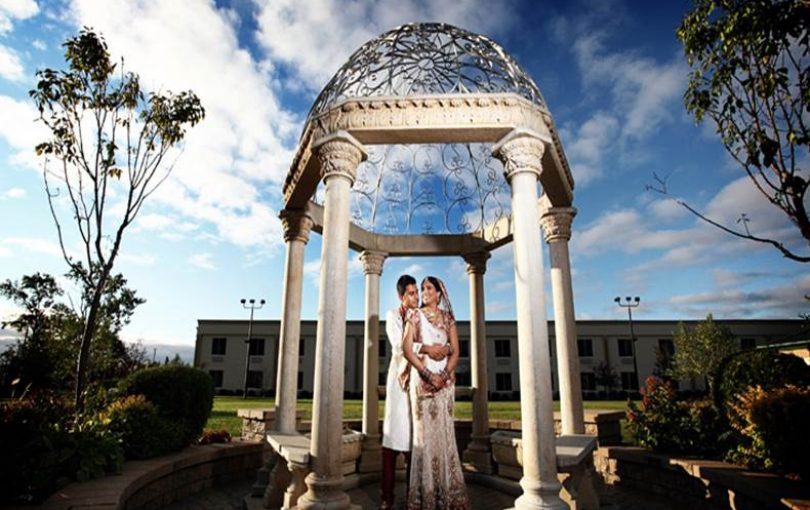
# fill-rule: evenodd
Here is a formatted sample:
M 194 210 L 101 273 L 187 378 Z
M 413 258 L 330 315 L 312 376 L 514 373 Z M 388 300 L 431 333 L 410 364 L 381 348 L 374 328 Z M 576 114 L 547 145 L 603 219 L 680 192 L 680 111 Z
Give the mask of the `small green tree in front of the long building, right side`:
M 737 350 L 734 335 L 726 326 L 714 322 L 712 314 L 691 331 L 679 322 L 673 341 L 675 354 L 670 375 L 675 379 L 703 378 L 709 388 L 713 386 L 717 366 Z

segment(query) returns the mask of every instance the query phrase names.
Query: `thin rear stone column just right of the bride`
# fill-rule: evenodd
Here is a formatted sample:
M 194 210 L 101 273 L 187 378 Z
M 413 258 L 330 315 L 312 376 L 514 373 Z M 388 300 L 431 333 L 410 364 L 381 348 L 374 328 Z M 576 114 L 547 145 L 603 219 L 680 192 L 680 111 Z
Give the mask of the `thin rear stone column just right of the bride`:
M 464 256 L 470 277 L 470 371 L 473 399 L 473 428 L 470 444 L 462 458 L 465 467 L 479 473 L 492 473 L 487 405 L 487 331 L 484 314 L 484 273 L 491 255 L 483 251 Z

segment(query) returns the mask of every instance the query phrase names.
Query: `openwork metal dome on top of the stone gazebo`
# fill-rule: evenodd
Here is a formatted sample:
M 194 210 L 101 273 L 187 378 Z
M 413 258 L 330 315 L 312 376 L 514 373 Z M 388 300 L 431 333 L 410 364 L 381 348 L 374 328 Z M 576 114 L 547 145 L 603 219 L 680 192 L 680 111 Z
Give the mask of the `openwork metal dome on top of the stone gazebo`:
M 492 39 L 444 23 L 411 23 L 358 49 L 309 117 L 353 97 L 507 92 L 545 108 L 531 77 Z

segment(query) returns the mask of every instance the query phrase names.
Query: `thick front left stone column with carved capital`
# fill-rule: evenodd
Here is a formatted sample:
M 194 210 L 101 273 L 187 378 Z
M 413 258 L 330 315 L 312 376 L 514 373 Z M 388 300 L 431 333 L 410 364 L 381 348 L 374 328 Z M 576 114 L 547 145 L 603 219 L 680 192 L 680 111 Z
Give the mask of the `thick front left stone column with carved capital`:
M 298 508 L 342 510 L 351 507 L 348 494 L 341 489 L 349 202 L 357 165 L 367 154 L 343 131 L 318 140 L 312 150 L 320 161 L 326 192 L 312 402 L 312 472 L 307 475 L 308 490 Z

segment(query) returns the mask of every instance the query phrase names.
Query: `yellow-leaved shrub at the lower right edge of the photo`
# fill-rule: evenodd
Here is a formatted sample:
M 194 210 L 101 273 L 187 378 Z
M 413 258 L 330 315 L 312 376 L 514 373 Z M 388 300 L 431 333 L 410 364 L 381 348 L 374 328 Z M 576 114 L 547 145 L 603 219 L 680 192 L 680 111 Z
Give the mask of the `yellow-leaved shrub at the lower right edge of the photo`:
M 730 460 L 810 480 L 810 388 L 749 388 L 729 405 L 729 420 L 743 438 Z

